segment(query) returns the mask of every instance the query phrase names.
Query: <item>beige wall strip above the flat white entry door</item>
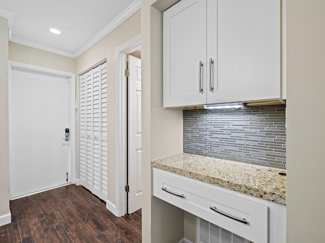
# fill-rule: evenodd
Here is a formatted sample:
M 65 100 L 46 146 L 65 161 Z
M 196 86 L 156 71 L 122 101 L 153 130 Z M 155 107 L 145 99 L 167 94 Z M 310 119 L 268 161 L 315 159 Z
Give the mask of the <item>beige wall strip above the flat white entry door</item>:
M 9 60 L 66 72 L 76 72 L 75 59 L 9 42 Z

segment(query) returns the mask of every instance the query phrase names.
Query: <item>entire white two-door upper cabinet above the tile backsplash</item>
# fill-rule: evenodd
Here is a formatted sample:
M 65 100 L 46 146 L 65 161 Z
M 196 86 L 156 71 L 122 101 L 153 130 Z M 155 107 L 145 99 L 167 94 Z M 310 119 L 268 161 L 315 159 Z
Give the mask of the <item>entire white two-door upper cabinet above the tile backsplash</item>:
M 280 0 L 180 1 L 164 13 L 164 107 L 280 99 L 280 31 Z

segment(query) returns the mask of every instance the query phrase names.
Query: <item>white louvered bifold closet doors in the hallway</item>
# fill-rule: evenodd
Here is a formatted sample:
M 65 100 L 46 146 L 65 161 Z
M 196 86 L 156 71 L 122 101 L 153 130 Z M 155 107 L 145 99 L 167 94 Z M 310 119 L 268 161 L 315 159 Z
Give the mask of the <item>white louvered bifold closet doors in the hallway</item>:
M 106 63 L 80 76 L 80 184 L 107 199 Z

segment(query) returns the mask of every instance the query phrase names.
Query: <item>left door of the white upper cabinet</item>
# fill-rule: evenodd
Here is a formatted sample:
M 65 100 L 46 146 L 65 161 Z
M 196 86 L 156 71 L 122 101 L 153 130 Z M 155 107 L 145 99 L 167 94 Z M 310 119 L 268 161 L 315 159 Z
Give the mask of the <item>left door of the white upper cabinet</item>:
M 205 16 L 206 0 L 181 1 L 164 12 L 165 107 L 206 103 Z

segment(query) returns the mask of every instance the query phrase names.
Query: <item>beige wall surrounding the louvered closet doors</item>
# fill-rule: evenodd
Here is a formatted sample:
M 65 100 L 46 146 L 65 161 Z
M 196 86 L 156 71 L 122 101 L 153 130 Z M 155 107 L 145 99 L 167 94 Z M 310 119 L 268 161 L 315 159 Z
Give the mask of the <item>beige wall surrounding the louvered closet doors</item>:
M 140 30 L 141 11 L 138 10 L 126 19 L 113 31 L 102 38 L 98 43 L 84 52 L 76 59 L 76 95 L 79 99 L 79 75 L 86 69 L 107 59 L 107 97 L 108 97 L 108 200 L 115 204 L 115 52 L 116 48 L 123 45 L 133 37 L 141 33 Z M 79 110 L 77 110 L 79 116 Z M 79 119 L 78 119 L 79 120 Z M 79 137 L 79 124 L 77 124 L 77 138 Z M 79 140 L 77 140 L 77 177 L 79 178 Z

